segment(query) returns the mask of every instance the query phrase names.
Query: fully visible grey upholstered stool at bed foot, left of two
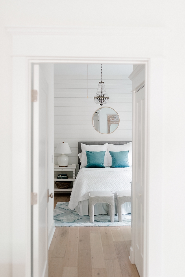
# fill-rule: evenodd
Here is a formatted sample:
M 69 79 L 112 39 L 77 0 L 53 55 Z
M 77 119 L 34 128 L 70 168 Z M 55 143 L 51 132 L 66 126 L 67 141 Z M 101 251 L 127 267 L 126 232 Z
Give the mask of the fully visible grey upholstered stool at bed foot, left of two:
M 96 203 L 108 203 L 110 211 L 110 221 L 114 222 L 114 194 L 111 191 L 91 191 L 89 192 L 89 217 L 90 222 L 94 222 L 94 205 Z

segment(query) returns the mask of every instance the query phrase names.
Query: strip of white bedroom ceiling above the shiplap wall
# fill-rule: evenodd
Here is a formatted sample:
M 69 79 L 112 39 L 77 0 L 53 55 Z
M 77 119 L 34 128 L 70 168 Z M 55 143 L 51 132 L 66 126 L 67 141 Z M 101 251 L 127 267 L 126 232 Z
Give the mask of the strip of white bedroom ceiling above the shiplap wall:
M 129 76 L 133 70 L 132 64 L 102 64 L 103 75 Z M 87 75 L 87 64 L 54 64 L 54 75 Z M 88 64 L 88 75 L 100 75 L 101 64 Z

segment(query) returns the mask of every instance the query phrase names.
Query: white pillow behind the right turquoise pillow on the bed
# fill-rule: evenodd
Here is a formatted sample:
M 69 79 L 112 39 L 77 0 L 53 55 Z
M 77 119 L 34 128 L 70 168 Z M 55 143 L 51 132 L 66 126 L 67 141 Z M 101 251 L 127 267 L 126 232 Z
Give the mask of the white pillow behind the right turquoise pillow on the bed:
M 127 151 L 129 150 L 128 153 L 128 162 L 129 165 L 132 166 L 132 142 L 126 143 L 126 144 L 108 144 L 107 146 L 107 159 L 108 159 L 108 166 L 112 166 L 112 157 L 109 153 L 109 151 L 113 152 L 120 152 L 120 151 Z

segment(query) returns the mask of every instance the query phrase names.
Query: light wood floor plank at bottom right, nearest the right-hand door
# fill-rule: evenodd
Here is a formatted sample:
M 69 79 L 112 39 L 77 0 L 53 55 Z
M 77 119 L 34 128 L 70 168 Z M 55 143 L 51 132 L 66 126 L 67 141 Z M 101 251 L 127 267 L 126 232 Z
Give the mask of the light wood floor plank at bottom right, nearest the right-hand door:
M 129 255 L 126 251 L 126 246 L 124 241 L 115 241 L 114 246 L 116 249 L 116 254 L 119 261 L 119 266 L 121 269 L 122 277 L 139 277 L 138 272 L 134 265 L 131 264 L 129 260 Z

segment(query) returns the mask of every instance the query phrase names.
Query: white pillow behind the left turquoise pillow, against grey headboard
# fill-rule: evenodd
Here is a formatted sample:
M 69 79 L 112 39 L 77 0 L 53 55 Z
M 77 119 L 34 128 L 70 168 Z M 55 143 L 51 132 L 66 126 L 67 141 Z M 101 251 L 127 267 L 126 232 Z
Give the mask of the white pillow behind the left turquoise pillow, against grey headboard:
M 108 143 L 105 143 L 103 145 L 86 145 L 86 144 L 81 143 L 81 147 L 82 147 L 81 165 L 82 165 L 82 167 L 87 165 L 86 151 L 95 151 L 95 152 L 106 151 L 105 157 L 104 157 L 104 166 L 108 166 L 107 146 L 108 146 Z

